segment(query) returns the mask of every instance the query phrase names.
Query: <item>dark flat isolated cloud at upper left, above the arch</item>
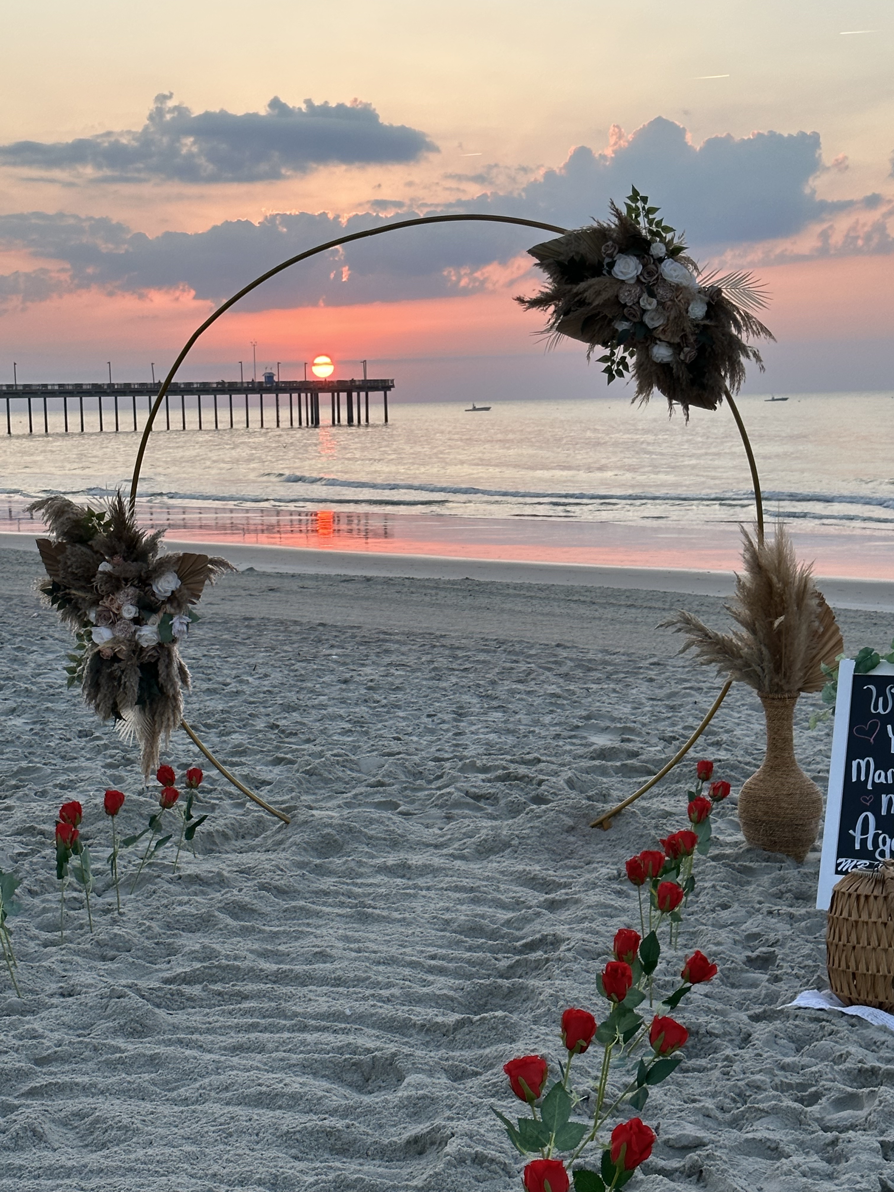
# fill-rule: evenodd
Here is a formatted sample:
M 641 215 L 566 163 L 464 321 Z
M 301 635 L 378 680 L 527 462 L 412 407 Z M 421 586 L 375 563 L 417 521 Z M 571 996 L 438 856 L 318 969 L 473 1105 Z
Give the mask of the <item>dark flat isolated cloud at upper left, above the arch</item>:
M 0 164 L 81 179 L 137 182 L 268 182 L 319 166 L 417 161 L 437 147 L 417 129 L 383 124 L 370 104 L 291 107 L 279 97 L 263 112 L 198 112 L 156 95 L 142 129 L 43 144 L 0 145 Z

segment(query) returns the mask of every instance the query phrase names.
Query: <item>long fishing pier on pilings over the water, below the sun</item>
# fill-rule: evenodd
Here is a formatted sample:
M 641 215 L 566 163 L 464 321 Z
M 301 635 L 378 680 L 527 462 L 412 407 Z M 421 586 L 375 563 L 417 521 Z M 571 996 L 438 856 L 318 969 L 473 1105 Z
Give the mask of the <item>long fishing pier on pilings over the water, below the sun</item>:
M 354 377 L 172 381 L 153 430 L 318 427 L 323 420 L 334 427 L 368 426 L 370 395 L 381 395 L 387 422 L 393 387 L 393 380 Z M 6 403 L 7 435 L 142 430 L 160 389 L 159 381 L 0 385 L 0 403 Z

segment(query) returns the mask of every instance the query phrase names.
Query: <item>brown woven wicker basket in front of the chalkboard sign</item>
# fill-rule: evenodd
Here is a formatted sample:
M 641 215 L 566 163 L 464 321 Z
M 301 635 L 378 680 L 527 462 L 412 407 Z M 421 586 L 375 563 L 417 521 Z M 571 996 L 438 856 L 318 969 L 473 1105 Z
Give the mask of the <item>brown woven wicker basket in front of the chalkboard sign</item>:
M 894 1013 L 894 861 L 848 874 L 832 890 L 826 927 L 828 983 L 845 1006 Z

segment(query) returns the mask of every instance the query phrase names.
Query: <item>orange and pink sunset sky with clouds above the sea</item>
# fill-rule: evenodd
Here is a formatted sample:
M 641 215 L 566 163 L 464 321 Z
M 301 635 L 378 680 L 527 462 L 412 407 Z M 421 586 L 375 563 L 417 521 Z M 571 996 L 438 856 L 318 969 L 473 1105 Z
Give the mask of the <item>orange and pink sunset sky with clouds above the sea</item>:
M 577 226 L 631 184 L 756 271 L 751 390 L 894 384 L 894 0 L 31 0 L 0 77 L 0 380 L 149 379 L 250 278 L 414 215 Z M 513 303 L 545 238 L 414 229 L 263 287 L 185 377 L 329 352 L 404 397 L 604 391 Z

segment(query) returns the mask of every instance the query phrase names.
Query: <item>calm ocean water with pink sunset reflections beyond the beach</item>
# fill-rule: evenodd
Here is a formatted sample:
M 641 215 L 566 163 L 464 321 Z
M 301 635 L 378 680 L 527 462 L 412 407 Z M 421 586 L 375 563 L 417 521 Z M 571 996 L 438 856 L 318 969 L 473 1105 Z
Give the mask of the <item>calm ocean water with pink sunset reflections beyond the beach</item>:
M 154 433 L 141 516 L 203 540 L 719 569 L 734 565 L 738 526 L 753 520 L 725 406 L 694 410 L 687 423 L 663 401 L 632 405 L 625 392 L 476 414 L 459 402 L 392 401 L 385 426 L 371 399 L 370 426 L 277 429 L 268 403 L 265 429 L 256 409 L 250 429 L 238 427 L 238 409 L 230 429 L 222 408 L 219 430 L 199 432 L 192 410 L 187 430 Z M 768 519 L 789 524 L 820 572 L 889 577 L 892 395 L 741 397 L 739 409 Z M 132 427 L 130 410 L 120 424 Z M 24 507 L 49 492 L 98 501 L 129 489 L 132 429 L 66 435 L 52 410 L 49 427 L 41 433 L 41 409 L 38 433 L 19 415 L 0 439 L 2 529 L 32 532 Z

